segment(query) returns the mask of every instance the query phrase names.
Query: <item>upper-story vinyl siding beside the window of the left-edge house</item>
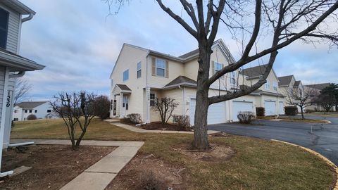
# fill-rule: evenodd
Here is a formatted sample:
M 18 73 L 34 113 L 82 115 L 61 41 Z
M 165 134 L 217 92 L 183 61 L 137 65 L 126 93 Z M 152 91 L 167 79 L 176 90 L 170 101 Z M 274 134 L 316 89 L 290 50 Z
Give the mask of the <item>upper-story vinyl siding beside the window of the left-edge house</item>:
M 0 5 L 0 8 L 3 8 L 9 13 L 6 49 L 13 53 L 18 53 L 21 15 L 4 5 Z

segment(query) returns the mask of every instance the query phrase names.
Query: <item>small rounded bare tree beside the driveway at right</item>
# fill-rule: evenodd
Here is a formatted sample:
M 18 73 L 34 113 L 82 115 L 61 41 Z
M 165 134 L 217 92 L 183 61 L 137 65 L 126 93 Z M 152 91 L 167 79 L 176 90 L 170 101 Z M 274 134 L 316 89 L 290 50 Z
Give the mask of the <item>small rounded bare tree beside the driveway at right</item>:
M 317 96 L 317 91 L 310 87 L 300 88 L 290 88 L 286 91 L 286 101 L 288 104 L 293 106 L 299 106 L 301 108 L 301 119 L 304 118 L 304 108 L 312 106 L 315 103 L 315 96 Z

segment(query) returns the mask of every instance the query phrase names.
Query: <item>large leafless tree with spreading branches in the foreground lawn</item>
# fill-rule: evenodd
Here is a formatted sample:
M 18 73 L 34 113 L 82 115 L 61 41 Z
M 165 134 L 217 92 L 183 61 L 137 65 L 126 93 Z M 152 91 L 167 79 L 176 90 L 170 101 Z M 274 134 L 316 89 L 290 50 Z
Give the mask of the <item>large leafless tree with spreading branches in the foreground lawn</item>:
M 199 44 L 192 144 L 200 150 L 210 148 L 207 135 L 208 107 L 213 103 L 250 94 L 261 87 L 273 68 L 279 49 L 289 46 L 298 39 L 306 43 L 327 41 L 331 42 L 331 45 L 338 44 L 337 28 L 334 28 L 337 25 L 329 24 L 337 23 L 335 11 L 338 8 L 338 1 L 336 0 L 196 0 L 195 3 L 180 0 L 186 13 L 184 16 L 182 13 L 174 13 L 171 8 L 163 4 L 162 0 L 156 1 L 162 10 L 182 25 Z M 119 10 L 125 2 L 129 1 L 106 0 L 106 2 L 110 7 L 113 4 L 117 5 Z M 183 19 L 186 16 L 189 20 Z M 226 32 L 242 46 L 242 55 L 238 61 L 231 60 L 229 65 L 209 76 L 212 46 L 220 23 L 225 25 Z M 213 82 L 263 57 L 268 61 L 258 82 L 246 89 L 208 97 L 209 87 Z

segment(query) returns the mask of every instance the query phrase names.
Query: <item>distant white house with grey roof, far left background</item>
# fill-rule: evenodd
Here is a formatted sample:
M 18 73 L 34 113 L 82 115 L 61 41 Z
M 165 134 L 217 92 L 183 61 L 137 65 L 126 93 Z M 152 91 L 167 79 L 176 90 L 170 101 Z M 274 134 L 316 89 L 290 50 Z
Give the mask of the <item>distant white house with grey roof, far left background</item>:
M 48 101 L 23 101 L 14 106 L 13 120 L 27 120 L 28 115 L 35 115 L 37 119 L 57 118 Z

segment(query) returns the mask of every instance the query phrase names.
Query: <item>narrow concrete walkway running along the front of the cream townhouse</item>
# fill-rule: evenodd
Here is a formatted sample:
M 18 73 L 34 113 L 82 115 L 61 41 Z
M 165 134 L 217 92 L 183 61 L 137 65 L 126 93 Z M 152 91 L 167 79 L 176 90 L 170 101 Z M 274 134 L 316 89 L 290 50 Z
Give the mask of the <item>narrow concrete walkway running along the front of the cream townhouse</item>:
M 108 119 L 104 120 L 106 122 L 110 122 L 111 125 L 116 125 L 118 127 L 122 127 L 123 129 L 128 129 L 132 132 L 139 132 L 139 133 L 179 133 L 179 134 L 194 134 L 194 132 L 184 132 L 184 131 L 165 131 L 165 130 L 146 130 L 140 127 L 134 127 L 131 125 L 125 125 L 120 122 L 116 122 L 116 120 Z M 215 134 L 218 131 L 208 130 L 208 134 Z

